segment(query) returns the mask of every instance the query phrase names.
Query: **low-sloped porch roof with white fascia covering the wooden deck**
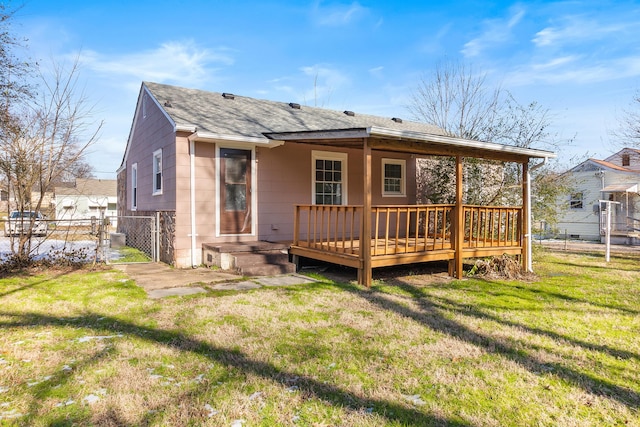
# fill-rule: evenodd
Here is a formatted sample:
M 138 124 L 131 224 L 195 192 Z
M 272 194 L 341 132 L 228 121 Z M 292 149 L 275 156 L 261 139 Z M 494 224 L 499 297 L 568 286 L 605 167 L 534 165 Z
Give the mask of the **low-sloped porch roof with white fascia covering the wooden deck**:
M 320 131 L 266 132 L 264 136 L 285 142 L 352 148 L 363 147 L 363 141 L 366 138 L 368 146 L 374 150 L 436 156 L 460 155 L 519 163 L 531 158 L 556 157 L 555 153 L 546 150 L 377 126 Z

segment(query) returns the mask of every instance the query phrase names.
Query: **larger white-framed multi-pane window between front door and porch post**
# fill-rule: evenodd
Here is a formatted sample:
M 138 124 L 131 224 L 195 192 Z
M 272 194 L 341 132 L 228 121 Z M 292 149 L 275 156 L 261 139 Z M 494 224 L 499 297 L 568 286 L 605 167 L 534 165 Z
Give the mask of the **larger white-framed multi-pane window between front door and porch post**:
M 313 203 L 347 203 L 347 154 L 313 151 Z

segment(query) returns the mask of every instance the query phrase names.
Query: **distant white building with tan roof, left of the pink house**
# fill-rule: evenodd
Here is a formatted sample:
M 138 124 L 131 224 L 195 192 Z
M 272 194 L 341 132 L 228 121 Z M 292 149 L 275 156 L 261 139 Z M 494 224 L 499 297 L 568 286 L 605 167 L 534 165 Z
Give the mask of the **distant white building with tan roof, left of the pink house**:
M 55 188 L 55 219 L 86 224 L 92 218 L 117 215 L 117 181 L 115 179 L 81 179 L 71 186 Z

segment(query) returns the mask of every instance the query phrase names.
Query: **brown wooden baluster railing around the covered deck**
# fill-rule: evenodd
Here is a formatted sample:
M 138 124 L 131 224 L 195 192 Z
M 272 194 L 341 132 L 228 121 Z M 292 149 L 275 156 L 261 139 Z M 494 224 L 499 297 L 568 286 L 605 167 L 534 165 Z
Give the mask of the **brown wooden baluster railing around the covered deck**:
M 454 209 L 451 204 L 372 207 L 371 255 L 453 249 Z M 522 245 L 522 208 L 465 205 L 463 211 L 463 248 Z M 359 257 L 362 215 L 362 206 L 297 205 L 293 245 Z

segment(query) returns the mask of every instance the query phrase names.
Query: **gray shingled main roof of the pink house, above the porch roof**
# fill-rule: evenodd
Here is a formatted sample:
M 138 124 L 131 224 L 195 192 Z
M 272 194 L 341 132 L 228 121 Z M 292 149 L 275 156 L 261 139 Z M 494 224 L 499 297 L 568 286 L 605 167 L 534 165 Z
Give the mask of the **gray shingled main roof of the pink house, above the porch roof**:
M 178 127 L 196 127 L 198 133 L 265 138 L 265 132 L 300 132 L 333 129 L 368 128 L 444 135 L 437 126 L 391 117 L 366 114 L 348 116 L 342 111 L 324 108 L 292 108 L 286 102 L 266 101 L 234 95 L 226 99 L 222 93 L 186 89 L 144 82 L 151 94 Z M 265 138 L 266 139 L 266 138 Z

